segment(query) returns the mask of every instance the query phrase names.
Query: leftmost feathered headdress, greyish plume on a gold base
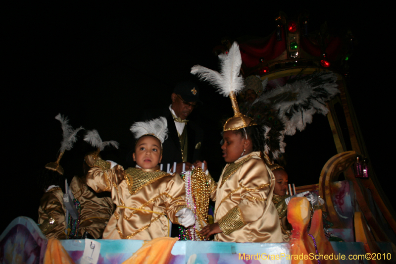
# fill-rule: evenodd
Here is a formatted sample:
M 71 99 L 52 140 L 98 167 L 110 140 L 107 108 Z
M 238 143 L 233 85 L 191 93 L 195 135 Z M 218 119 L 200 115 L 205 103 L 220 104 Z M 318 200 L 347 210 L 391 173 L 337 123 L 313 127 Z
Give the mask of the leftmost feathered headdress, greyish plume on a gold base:
M 60 113 L 55 116 L 56 120 L 60 121 L 63 130 L 63 139 L 60 143 L 59 156 L 55 162 L 50 162 L 46 165 L 47 169 L 51 169 L 57 171 L 59 174 L 63 175 L 64 170 L 62 166 L 59 165 L 60 158 L 62 158 L 65 151 L 69 151 L 73 148 L 73 144 L 77 141 L 77 132 L 84 129 L 82 126 L 79 128 L 73 129 L 71 125 L 69 125 L 69 120 L 67 117 L 64 117 Z

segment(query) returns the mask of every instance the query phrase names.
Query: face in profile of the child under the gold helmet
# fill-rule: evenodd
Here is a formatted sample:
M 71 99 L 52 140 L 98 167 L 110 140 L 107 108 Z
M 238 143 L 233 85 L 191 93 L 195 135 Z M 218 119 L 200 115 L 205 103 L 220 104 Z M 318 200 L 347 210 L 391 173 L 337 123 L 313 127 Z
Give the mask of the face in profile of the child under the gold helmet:
M 224 143 L 221 146 L 223 150 L 223 158 L 227 163 L 234 162 L 241 158 L 244 153 L 245 138 L 240 134 L 235 134 L 233 131 L 226 131 L 223 133 Z

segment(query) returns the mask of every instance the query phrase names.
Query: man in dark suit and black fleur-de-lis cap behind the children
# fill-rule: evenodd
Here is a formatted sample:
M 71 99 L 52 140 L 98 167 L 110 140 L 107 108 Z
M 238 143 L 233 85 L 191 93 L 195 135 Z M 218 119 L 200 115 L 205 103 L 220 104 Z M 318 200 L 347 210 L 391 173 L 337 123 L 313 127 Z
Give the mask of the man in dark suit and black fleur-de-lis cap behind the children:
M 199 100 L 198 85 L 193 82 L 181 82 L 171 95 L 172 104 L 162 109 L 150 109 L 143 114 L 142 120 L 164 116 L 168 122 L 168 138 L 162 144 L 163 170 L 166 164 L 177 162 L 176 172 L 192 168 L 201 157 L 203 140 L 202 129 L 193 121 L 187 120 L 191 112 L 202 102 Z M 130 156 L 130 155 L 128 155 Z

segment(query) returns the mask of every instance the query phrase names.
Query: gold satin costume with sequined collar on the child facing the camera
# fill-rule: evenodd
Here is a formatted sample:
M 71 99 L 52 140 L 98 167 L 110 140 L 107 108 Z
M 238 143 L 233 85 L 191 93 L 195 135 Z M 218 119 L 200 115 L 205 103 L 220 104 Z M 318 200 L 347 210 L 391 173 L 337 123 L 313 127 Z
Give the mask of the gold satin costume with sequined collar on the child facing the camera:
M 184 182 L 178 174 L 159 170 L 92 167 L 87 184 L 96 192 L 111 191 L 116 204 L 103 232 L 104 239 L 151 240 L 168 236 L 168 218 L 178 223 L 176 212 L 187 207 Z M 139 210 L 136 210 L 139 209 Z

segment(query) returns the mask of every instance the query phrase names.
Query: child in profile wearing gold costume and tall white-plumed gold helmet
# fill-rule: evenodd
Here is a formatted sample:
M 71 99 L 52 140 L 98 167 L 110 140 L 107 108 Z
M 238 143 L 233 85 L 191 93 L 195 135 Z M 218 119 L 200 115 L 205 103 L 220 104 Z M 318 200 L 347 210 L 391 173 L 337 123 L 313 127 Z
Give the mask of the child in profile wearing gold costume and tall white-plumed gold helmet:
M 243 89 L 240 76 L 241 53 L 236 43 L 220 54 L 222 70 L 215 72 L 194 66 L 193 74 L 209 80 L 220 94 L 230 97 L 234 117 L 223 127 L 223 158 L 228 163 L 219 183 L 208 175 L 210 198 L 216 202 L 214 223 L 206 225 L 201 234 L 225 242 L 283 242 L 278 213 L 272 203 L 275 177 L 260 153 L 266 148 L 263 126 L 243 115 L 236 94 Z

